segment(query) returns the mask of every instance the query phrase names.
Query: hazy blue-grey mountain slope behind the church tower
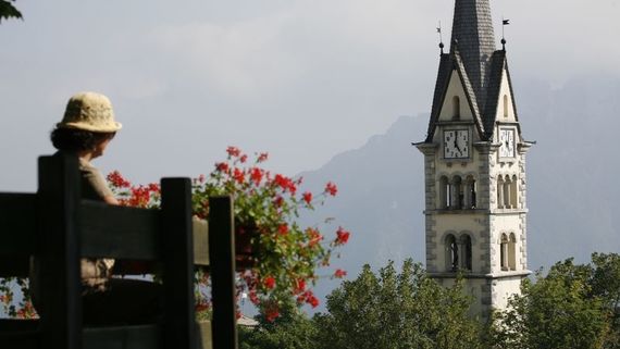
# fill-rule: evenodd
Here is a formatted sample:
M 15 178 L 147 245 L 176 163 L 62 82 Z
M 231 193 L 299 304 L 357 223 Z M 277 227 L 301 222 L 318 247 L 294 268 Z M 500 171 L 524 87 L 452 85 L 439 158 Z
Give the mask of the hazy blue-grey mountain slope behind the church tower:
M 560 89 L 525 82 L 516 90 L 526 140 L 529 265 L 535 270 L 593 251 L 620 251 L 620 78 L 578 78 Z M 350 228 L 334 260 L 355 276 L 364 263 L 412 257 L 424 261 L 423 161 L 411 146 L 425 137 L 427 116 L 402 116 L 361 148 L 334 157 L 306 185 L 339 185 L 326 212 Z M 351 126 L 355 127 L 355 126 Z M 335 283 L 321 283 L 327 292 Z

